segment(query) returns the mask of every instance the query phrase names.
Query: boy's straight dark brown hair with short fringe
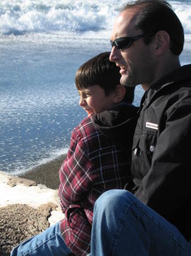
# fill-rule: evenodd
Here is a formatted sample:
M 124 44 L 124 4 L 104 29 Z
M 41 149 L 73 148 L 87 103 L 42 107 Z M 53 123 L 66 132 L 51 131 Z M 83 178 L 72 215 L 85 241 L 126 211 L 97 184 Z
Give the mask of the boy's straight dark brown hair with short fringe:
M 78 90 L 99 85 L 108 96 L 120 84 L 120 68 L 109 60 L 110 52 L 103 52 L 82 64 L 75 74 L 75 85 Z M 122 86 L 122 85 L 121 85 Z M 132 103 L 134 99 L 134 86 L 125 87 L 124 101 Z

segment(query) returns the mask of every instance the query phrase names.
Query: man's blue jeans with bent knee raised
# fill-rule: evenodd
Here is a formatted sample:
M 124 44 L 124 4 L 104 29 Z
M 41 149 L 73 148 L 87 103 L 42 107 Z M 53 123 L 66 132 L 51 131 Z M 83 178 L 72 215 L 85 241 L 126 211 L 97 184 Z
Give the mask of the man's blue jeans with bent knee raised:
M 94 207 L 91 256 L 103 255 L 188 256 L 191 245 L 130 192 L 114 189 L 103 193 Z

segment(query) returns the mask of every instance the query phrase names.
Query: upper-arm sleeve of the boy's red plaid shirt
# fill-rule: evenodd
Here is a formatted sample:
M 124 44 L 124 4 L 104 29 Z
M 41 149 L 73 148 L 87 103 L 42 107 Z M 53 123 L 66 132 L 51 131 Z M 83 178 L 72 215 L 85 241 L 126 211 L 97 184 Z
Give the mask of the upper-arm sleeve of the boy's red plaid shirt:
M 86 145 L 75 129 L 71 135 L 67 158 L 60 168 L 59 196 L 62 212 L 71 204 L 84 199 L 92 186 L 91 163 L 86 154 Z

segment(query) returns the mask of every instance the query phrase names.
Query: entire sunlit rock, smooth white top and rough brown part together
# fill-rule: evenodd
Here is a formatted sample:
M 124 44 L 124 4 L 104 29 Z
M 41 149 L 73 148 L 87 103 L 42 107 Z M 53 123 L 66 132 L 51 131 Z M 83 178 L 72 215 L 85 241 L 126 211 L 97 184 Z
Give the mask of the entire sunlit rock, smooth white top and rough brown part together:
M 0 255 L 61 220 L 58 190 L 0 171 Z

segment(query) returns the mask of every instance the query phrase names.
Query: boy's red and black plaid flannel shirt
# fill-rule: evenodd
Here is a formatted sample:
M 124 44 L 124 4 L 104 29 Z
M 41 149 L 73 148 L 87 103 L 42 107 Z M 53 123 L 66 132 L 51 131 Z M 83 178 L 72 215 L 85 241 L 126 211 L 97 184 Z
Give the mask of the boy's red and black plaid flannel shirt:
M 65 213 L 60 221 L 61 234 L 75 255 L 90 253 L 95 201 L 109 189 L 124 188 L 130 158 L 131 153 L 100 133 L 91 118 L 83 119 L 73 130 L 67 158 L 60 168 L 59 196 Z

